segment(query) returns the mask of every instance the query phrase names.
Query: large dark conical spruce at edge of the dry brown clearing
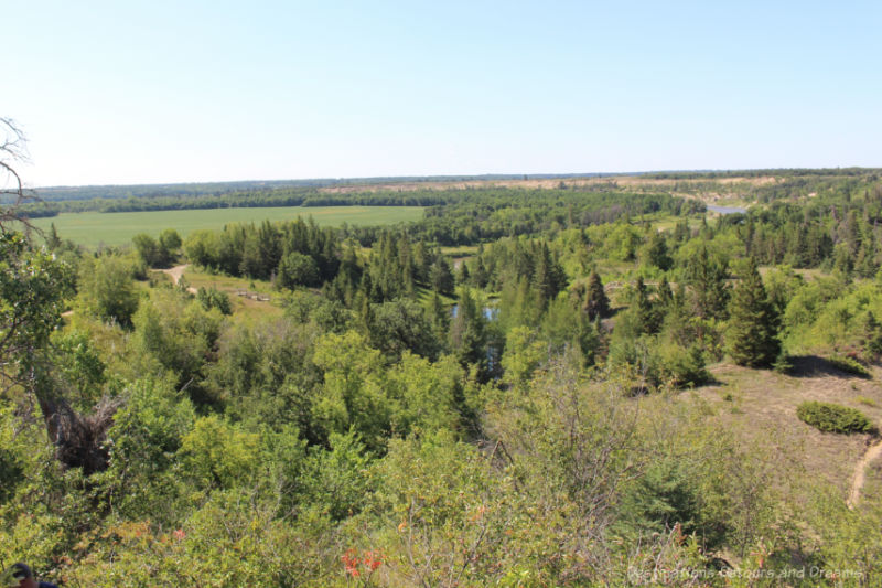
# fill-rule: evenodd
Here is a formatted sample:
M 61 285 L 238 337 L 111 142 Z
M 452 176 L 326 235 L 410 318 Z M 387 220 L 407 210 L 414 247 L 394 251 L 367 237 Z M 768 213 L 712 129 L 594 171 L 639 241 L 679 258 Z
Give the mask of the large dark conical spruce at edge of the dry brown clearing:
M 729 303 L 725 349 L 739 365 L 768 366 L 781 352 L 778 314 L 751 257 Z

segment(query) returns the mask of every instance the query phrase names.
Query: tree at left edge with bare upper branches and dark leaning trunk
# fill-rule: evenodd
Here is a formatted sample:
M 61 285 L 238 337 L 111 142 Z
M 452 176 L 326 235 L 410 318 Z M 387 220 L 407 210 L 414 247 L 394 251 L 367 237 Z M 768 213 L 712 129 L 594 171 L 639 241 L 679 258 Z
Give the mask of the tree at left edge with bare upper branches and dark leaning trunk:
M 35 195 L 15 171 L 26 159 L 24 135 L 11 119 L 0 118 L 0 398 L 15 391 L 36 400 L 58 461 L 90 474 L 108 466 L 105 437 L 119 402 L 104 398 L 92 414 L 78 414 L 53 370 L 50 334 L 73 290 L 69 272 L 28 237 L 33 227 L 21 205 Z

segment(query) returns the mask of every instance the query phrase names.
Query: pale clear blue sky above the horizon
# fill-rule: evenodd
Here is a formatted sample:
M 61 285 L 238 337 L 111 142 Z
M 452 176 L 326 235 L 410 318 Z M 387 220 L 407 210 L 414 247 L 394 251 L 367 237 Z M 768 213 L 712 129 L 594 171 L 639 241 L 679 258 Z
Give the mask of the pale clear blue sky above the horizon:
M 882 167 L 882 2 L 11 0 L 31 185 Z

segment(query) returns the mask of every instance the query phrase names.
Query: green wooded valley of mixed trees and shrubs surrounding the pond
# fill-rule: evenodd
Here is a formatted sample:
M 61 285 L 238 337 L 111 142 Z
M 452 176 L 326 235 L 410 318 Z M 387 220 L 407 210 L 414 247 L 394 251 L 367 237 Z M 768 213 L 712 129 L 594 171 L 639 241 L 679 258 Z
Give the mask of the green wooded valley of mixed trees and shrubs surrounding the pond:
M 882 175 L 632 180 L 4 209 L 0 567 L 107 588 L 878 585 Z M 309 203 L 427 210 L 99 250 L 14 221 Z

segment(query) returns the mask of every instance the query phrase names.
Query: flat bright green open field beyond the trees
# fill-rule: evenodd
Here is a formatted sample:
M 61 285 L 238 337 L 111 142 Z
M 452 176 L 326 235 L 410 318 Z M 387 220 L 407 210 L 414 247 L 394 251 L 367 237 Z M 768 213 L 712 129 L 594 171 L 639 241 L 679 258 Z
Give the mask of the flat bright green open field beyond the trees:
M 36 218 L 34 225 L 49 229 L 52 223 L 63 239 L 86 247 L 121 245 L 138 233 L 155 237 L 164 228 L 174 228 L 182 237 L 200 228 L 223 228 L 229 223 L 260 223 L 312 216 L 320 225 L 388 225 L 417 221 L 420 206 L 284 206 L 269 209 L 209 209 L 195 211 L 150 211 L 116 213 L 65 213 L 52 218 Z

